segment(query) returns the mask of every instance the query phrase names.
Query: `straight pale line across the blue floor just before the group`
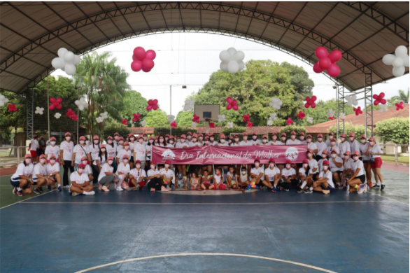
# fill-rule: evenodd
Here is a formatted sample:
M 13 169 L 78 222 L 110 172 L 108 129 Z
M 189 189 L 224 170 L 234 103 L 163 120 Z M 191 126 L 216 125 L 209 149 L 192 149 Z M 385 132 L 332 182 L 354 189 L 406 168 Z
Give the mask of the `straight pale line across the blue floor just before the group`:
M 387 203 L 385 200 L 365 200 L 365 201 L 318 201 L 318 202 L 257 202 L 257 203 L 134 203 L 134 202 L 24 202 L 24 204 L 134 204 L 134 205 L 190 205 L 190 204 L 232 204 L 232 205 L 261 205 L 261 204 L 332 204 L 332 203 Z

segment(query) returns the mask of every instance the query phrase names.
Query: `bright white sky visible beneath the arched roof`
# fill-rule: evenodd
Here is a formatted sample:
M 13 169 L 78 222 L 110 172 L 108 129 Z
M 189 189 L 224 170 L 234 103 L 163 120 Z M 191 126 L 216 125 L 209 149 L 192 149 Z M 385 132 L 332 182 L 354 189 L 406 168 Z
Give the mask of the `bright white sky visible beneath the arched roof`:
M 134 72 L 131 70 L 132 52 L 141 46 L 145 50 L 153 49 L 157 53 L 154 59 L 155 66 L 149 72 Z M 222 36 L 219 34 L 204 33 L 167 33 L 131 38 L 113 43 L 95 51 L 102 53 L 112 52 L 117 64 L 122 66 L 129 77 L 131 90 L 136 90 L 146 99 L 158 99 L 160 108 L 176 116 L 183 110 L 185 98 L 198 90 L 208 81 L 211 73 L 220 66 L 219 54 L 222 50 L 236 48 L 245 53 L 244 62 L 250 59 L 271 59 L 275 62 L 290 62 L 302 66 L 309 78 L 315 83 L 313 94 L 322 100 L 333 99 L 336 96 L 332 88 L 334 83 L 322 73 L 313 72 L 312 67 L 301 60 L 281 52 L 267 45 L 247 41 L 242 38 Z M 64 71 L 57 70 L 53 76 L 67 76 Z M 183 89 L 182 85 L 187 88 Z M 170 105 L 169 90 L 172 89 Z M 395 96 L 398 90 L 409 88 L 409 74 L 379 83 L 373 86 L 373 94 L 385 92 L 386 98 Z M 363 94 L 359 94 L 358 98 Z M 364 101 L 360 101 L 364 106 Z

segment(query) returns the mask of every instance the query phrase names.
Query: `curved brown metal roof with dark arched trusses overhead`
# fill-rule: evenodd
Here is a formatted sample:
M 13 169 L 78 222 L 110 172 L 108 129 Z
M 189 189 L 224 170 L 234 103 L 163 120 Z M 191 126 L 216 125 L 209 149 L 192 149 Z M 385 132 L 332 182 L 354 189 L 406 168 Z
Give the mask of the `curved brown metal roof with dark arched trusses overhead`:
M 0 18 L 0 89 L 12 92 L 47 76 L 59 48 L 82 54 L 168 31 L 239 36 L 312 65 L 319 45 L 339 49 L 348 90 L 363 87 L 362 73 L 393 78 L 383 55 L 409 48 L 409 2 L 2 2 Z

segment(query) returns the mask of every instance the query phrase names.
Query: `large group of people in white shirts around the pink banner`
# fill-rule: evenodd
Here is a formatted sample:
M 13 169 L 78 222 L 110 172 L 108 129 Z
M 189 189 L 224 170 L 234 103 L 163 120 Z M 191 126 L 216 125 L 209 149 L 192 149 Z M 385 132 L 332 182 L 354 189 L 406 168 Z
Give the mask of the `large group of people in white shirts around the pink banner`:
M 234 134 L 227 138 L 219 134 L 218 141 L 214 134 L 157 135 L 129 134 L 125 137 L 115 133 L 104 141 L 98 136 L 88 141 L 80 137 L 74 145 L 71 133 L 64 135 L 64 141 L 58 146 L 55 137 L 51 137 L 38 155 L 31 148 L 37 148 L 32 141 L 24 161 L 18 165 L 10 179 L 13 193 L 19 196 L 31 193 L 43 193 L 48 190 L 68 188 L 71 195 L 94 195 L 94 190 L 244 190 L 253 188 L 278 190 L 296 190 L 297 193 L 318 192 L 332 193 L 336 189 L 350 193 L 365 193 L 369 188 L 383 190 L 385 184 L 381 174 L 381 155 L 383 151 L 376 144 L 376 139 L 365 135 L 360 142 L 355 134 L 341 134 L 339 143 L 332 132 L 329 139 L 323 140 L 318 134 L 313 142 L 311 134 L 304 132 L 297 136 L 290 133 L 274 132 L 271 139 L 267 134 L 262 139 L 253 133 Z M 267 164 L 255 159 L 253 164 L 225 165 L 173 165 L 170 160 L 157 164 L 151 160 L 153 146 L 170 148 L 188 148 L 194 146 L 265 146 L 307 144 L 306 159 L 300 164 L 290 160 L 285 164 L 276 164 L 272 158 Z M 60 166 L 63 174 L 60 175 Z M 372 183 L 372 171 L 375 184 Z M 70 175 L 69 175 L 70 172 Z M 57 186 L 56 186 L 57 184 Z

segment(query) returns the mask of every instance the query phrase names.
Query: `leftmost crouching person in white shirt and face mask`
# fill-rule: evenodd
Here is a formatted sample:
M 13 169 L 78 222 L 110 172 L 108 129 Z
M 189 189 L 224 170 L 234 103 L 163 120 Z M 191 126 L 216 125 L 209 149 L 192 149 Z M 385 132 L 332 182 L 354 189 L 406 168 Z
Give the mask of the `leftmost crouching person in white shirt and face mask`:
M 33 172 L 34 165 L 31 163 L 31 154 L 27 153 L 24 155 L 24 161 L 17 166 L 15 173 L 10 178 L 13 194 L 18 196 L 24 196 L 24 193 L 31 195 L 33 192 L 31 190 Z

